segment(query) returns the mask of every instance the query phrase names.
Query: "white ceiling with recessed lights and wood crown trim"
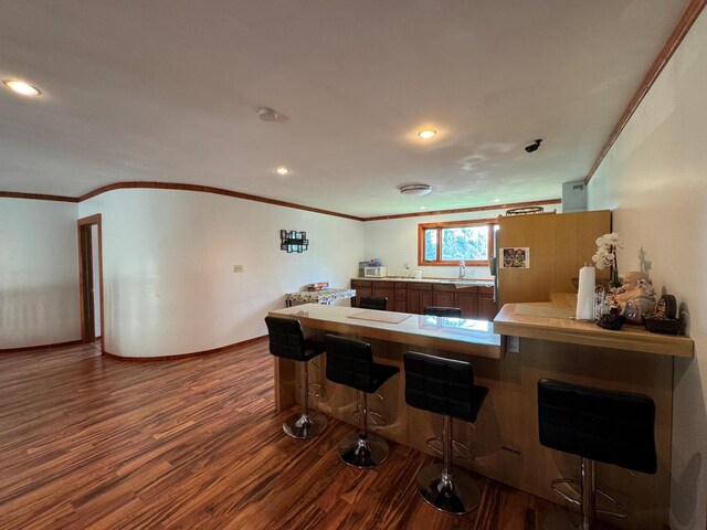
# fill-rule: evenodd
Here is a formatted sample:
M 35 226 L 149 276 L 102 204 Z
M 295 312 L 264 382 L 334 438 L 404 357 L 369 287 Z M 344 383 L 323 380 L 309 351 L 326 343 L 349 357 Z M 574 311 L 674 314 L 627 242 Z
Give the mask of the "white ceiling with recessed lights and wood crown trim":
M 44 94 L 0 91 L 0 191 L 181 182 L 360 216 L 558 198 L 688 3 L 2 2 L 0 77 Z

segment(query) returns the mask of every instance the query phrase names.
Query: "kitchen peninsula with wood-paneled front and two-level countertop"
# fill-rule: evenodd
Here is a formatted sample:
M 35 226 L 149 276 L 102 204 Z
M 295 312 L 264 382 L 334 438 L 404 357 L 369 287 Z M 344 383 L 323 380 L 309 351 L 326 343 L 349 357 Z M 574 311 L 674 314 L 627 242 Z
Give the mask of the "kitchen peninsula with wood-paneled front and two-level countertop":
M 432 282 L 430 284 L 434 285 Z M 401 314 L 314 304 L 271 311 L 270 315 L 297 318 L 306 332 L 318 338 L 324 332 L 335 332 L 367 340 L 378 362 L 399 367 L 400 375 L 381 389 L 382 399 L 371 398 L 371 409 L 388 418 L 387 425 L 377 433 L 429 454 L 433 453 L 426 446 L 426 439 L 439 435 L 439 418 L 407 406 L 402 354 L 405 351 L 422 351 L 469 360 L 478 384 L 489 388 L 489 396 L 474 427 L 455 421 L 455 437 L 464 443 L 473 441 L 476 454 L 476 460 L 471 465 L 464 462 L 457 464 L 553 502 L 559 502 L 559 499 L 550 489 L 551 480 L 574 477 L 579 460 L 539 444 L 538 381 L 549 378 L 651 396 L 656 406 L 657 474 L 630 474 L 602 464 L 597 464 L 597 474 L 599 486 L 620 498 L 631 513 L 627 520 L 612 519 L 612 524 L 659 530 L 667 523 L 669 504 L 673 356 L 687 354 L 692 340 L 648 333 L 644 341 L 645 351 L 636 351 L 641 348 L 627 347 L 622 342 L 598 347 L 580 340 L 582 330 L 577 331 L 580 339 L 574 340 L 571 337 L 574 324 L 569 320 L 571 311 L 568 312 L 568 295 L 552 295 L 555 301 L 506 306 L 508 309 L 502 310 L 495 328 L 488 321 L 437 319 L 420 315 L 402 315 L 405 318 L 399 324 L 361 320 L 351 317 L 360 312 L 381 312 L 383 316 Z M 509 326 L 508 311 L 513 309 L 517 314 L 520 306 L 540 308 L 536 317 L 523 316 L 527 312 L 525 309 L 519 311 L 526 324 L 527 319 L 535 318 L 536 328 L 527 335 L 519 333 L 523 337 L 519 353 L 505 353 L 499 347 L 500 337 L 495 333 L 518 331 L 518 328 L 505 326 Z M 541 333 L 537 326 L 544 319 L 553 318 L 567 318 L 568 337 L 548 339 L 534 335 Z M 463 325 L 460 326 L 461 322 Z M 462 331 L 461 336 L 455 335 L 461 330 L 466 331 Z M 604 331 L 597 330 L 600 333 Z M 641 330 L 613 333 L 632 341 L 634 346 L 640 344 L 640 338 L 643 337 Z M 676 348 L 665 349 L 664 354 L 651 354 L 654 348 L 652 343 L 665 342 Z M 315 406 L 327 415 L 354 424 L 351 413 L 355 410 L 355 393 L 326 380 L 325 362 L 323 359 L 318 361 L 318 367 L 310 369 L 313 380 L 325 389 L 325 395 L 316 400 Z M 275 365 L 276 402 L 278 407 L 286 407 L 298 399 L 295 392 L 298 380 L 296 367 L 279 358 L 275 359 Z

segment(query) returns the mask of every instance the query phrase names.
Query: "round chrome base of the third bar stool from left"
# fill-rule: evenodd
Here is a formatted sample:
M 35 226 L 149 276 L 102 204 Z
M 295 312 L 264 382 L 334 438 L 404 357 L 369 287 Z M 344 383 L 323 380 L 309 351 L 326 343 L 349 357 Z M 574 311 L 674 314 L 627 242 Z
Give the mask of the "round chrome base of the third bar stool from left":
M 420 469 L 416 483 L 422 498 L 446 513 L 468 513 L 482 500 L 478 486 L 466 471 L 454 468 L 450 477 L 443 464 L 430 464 Z

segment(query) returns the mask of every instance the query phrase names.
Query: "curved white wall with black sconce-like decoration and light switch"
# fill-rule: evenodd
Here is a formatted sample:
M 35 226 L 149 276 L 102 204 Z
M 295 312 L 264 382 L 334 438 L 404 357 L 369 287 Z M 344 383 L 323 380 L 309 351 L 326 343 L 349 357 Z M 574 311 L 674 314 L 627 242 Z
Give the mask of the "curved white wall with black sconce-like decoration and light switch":
M 363 248 L 361 222 L 210 193 L 116 190 L 78 210 L 103 214 L 104 344 L 126 357 L 266 335 L 285 293 L 347 287 Z M 281 229 L 306 231 L 309 250 L 281 251 Z

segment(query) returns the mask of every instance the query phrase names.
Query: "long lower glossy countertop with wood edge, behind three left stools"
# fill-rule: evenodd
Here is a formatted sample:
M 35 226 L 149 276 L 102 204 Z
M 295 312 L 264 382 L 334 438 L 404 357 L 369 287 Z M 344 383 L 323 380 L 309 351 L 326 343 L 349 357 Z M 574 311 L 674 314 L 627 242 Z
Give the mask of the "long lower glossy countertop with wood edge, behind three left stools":
M 296 318 L 305 328 L 500 359 L 500 337 L 493 331 L 492 322 L 407 312 L 400 314 L 407 317 L 399 324 L 349 318 L 360 311 L 356 307 L 304 304 L 270 311 L 270 316 Z M 392 311 L 380 312 L 394 315 Z

